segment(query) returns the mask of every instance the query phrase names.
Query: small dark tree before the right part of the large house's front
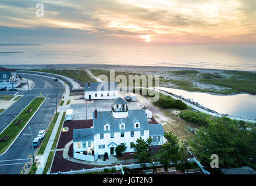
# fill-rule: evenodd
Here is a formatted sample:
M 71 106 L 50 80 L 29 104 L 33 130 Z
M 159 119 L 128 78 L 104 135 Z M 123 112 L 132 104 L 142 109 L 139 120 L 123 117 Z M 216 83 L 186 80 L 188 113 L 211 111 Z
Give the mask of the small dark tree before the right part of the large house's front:
M 132 144 L 131 148 L 135 148 L 137 153 L 134 153 L 134 157 L 138 159 L 138 163 L 145 169 L 145 163 L 152 163 L 150 152 L 150 144 L 152 138 L 148 138 L 147 141 L 144 141 L 143 138 L 138 138 L 136 144 Z

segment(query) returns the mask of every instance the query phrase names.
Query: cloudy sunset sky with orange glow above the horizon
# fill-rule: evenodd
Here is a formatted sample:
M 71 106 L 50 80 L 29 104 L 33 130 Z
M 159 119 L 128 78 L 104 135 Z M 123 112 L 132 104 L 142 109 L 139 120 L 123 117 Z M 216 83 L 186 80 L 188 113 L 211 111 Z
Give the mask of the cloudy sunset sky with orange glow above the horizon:
M 255 0 L 1 0 L 0 44 L 254 45 L 255 17 Z

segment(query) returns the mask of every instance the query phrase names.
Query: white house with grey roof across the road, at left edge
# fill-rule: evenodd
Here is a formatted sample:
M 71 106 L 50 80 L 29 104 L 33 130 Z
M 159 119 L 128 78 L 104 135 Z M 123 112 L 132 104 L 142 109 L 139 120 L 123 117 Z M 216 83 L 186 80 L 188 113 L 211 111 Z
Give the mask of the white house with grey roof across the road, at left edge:
M 0 69 L 0 88 L 15 88 L 21 83 L 15 69 Z

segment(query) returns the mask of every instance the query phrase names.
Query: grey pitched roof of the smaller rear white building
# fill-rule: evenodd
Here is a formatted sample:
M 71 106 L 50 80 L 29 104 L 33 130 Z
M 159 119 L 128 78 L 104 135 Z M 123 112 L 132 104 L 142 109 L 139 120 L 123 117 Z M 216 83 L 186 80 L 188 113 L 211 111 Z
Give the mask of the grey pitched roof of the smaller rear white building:
M 84 83 L 84 91 L 115 91 L 118 88 L 117 82 L 90 82 L 90 87 L 88 86 L 89 83 Z

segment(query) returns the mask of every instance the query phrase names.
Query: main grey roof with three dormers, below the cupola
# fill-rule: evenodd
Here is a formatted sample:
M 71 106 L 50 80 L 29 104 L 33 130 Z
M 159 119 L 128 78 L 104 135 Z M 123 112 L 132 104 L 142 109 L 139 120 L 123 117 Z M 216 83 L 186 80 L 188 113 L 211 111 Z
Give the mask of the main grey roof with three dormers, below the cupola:
M 134 123 L 139 122 L 140 128 L 134 128 Z M 119 124 L 125 123 L 125 129 L 120 130 Z M 110 130 L 104 131 L 105 124 L 109 124 Z M 149 130 L 148 120 L 144 109 L 129 110 L 128 117 L 115 118 L 112 111 L 99 111 L 97 118 L 93 113 L 94 133 L 114 133 L 119 131 Z

